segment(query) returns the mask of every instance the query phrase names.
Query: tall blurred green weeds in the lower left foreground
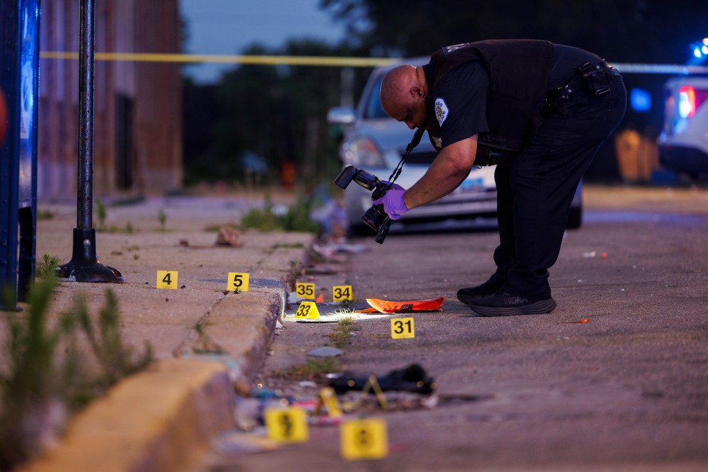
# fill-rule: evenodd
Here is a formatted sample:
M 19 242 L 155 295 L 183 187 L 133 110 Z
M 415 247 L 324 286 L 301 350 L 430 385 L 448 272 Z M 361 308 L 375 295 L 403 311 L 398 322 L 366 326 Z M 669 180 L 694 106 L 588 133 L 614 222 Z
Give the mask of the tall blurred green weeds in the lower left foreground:
M 118 300 L 110 289 L 97 327 L 80 299 L 56 323 L 50 323 L 47 312 L 56 287 L 55 277 L 38 281 L 25 312 L 6 317 L 8 339 L 2 356 L 7 369 L 0 374 L 0 470 L 10 470 L 40 454 L 56 440 L 67 412 L 83 407 L 152 360 L 149 344 L 137 357 L 122 344 Z M 86 352 L 78 348 L 80 335 L 89 339 L 98 372 L 84 368 Z

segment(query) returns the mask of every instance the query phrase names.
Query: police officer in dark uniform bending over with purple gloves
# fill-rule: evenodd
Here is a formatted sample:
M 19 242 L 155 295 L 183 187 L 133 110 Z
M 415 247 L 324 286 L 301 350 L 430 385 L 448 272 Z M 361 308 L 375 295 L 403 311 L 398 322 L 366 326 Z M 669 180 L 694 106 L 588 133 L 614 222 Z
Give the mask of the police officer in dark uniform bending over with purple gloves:
M 396 220 L 455 190 L 473 165 L 496 164 L 496 271 L 457 298 L 484 316 L 551 313 L 548 269 L 573 195 L 627 105 L 617 69 L 548 41 L 479 41 L 392 69 L 380 99 L 392 118 L 427 128 L 439 154 L 410 189 L 375 203 Z

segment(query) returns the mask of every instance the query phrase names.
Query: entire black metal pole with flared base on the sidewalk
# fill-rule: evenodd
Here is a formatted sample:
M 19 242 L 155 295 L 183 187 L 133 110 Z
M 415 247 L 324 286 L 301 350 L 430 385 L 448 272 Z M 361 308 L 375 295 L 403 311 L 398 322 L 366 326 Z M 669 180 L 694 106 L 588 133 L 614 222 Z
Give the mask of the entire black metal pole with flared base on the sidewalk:
M 79 156 L 76 174 L 76 227 L 72 260 L 57 267 L 57 277 L 77 282 L 125 281 L 118 269 L 98 262 L 93 229 L 93 6 L 81 0 L 79 23 Z

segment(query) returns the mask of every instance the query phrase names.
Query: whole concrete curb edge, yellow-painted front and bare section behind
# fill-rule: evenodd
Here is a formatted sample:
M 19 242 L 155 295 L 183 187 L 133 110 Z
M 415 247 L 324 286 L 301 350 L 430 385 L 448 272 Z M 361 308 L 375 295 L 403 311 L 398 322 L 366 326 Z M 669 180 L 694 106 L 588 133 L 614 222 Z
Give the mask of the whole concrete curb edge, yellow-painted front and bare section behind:
M 312 242 L 302 251 L 303 264 Z M 275 279 L 252 279 L 244 293 L 224 293 L 199 323 L 218 352 L 194 354 L 190 336 L 177 359 L 159 359 L 125 378 L 69 422 L 57 448 L 23 471 L 185 471 L 210 450 L 218 432 L 233 429 L 235 395 L 248 393 L 263 365 L 288 286 L 297 278 L 293 251 L 278 261 Z M 284 258 L 285 257 L 285 258 Z M 286 261 L 288 264 L 284 264 Z M 271 273 L 273 273 L 271 271 Z M 190 303 L 188 292 L 181 303 Z

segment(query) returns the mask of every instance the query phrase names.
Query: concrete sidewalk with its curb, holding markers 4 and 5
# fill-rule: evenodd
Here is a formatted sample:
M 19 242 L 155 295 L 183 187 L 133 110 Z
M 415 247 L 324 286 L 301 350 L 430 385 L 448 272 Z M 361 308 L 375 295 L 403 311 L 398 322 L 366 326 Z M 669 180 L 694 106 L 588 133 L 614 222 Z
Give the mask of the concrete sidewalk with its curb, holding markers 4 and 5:
M 234 391 L 249 388 L 263 363 L 314 242 L 307 233 L 244 230 L 241 247 L 215 245 L 217 232 L 205 228 L 238 222 L 252 206 L 261 203 L 176 197 L 107 207 L 105 226 L 113 231 L 98 232 L 98 257 L 125 283 L 63 282 L 52 315 L 72 307 L 76 296 L 96 314 L 110 289 L 124 341 L 137 352 L 149 342 L 156 361 L 79 413 L 62 444 L 28 470 L 187 470 L 215 432 L 234 427 Z M 54 217 L 38 223 L 38 262 L 42 254 L 69 262 L 76 207 L 40 209 Z M 164 230 L 160 210 L 167 216 Z M 156 288 L 158 270 L 178 271 L 179 288 Z M 249 291 L 227 291 L 229 272 L 249 274 Z

